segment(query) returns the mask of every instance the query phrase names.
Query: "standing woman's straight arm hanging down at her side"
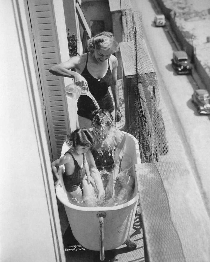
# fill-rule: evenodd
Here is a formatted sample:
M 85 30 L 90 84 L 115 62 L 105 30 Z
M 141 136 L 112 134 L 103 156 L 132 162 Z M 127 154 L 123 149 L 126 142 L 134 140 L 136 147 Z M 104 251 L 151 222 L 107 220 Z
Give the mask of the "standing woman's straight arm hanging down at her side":
M 122 114 L 120 112 L 119 108 L 119 88 L 117 85 L 117 66 L 118 66 L 118 61 L 115 56 L 113 60 L 113 69 L 112 69 L 112 84 L 111 84 L 111 90 L 115 102 L 115 120 L 116 122 L 119 122 L 121 120 Z

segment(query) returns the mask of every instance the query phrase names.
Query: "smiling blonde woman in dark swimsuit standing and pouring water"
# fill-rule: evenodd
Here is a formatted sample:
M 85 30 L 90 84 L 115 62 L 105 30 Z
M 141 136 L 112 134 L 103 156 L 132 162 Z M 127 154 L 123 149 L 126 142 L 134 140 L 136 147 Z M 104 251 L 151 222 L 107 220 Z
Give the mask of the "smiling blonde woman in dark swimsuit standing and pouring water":
M 71 57 L 68 61 L 52 66 L 49 69 L 54 75 L 74 79 L 78 86 L 88 85 L 101 109 L 108 110 L 119 122 L 122 114 L 119 110 L 119 89 L 117 86 L 117 58 L 113 55 L 118 50 L 118 43 L 110 32 L 102 32 L 88 40 L 88 53 Z M 70 69 L 75 69 L 72 71 Z M 108 91 L 111 86 L 115 102 Z M 91 98 L 80 96 L 77 102 L 80 127 L 91 128 L 91 112 L 96 109 Z

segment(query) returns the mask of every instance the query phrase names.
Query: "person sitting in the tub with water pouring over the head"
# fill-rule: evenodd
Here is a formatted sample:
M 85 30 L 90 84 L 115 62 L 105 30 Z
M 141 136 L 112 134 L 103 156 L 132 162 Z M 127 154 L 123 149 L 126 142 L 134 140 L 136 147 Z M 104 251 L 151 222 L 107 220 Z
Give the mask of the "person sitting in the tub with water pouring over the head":
M 93 111 L 91 125 L 95 138 L 91 155 L 95 160 L 97 169 L 106 169 L 110 172 L 106 188 L 106 198 L 109 199 L 115 194 L 116 178 L 119 175 L 125 147 L 125 134 L 114 126 L 113 117 L 107 110 Z M 88 161 L 89 155 L 88 153 Z

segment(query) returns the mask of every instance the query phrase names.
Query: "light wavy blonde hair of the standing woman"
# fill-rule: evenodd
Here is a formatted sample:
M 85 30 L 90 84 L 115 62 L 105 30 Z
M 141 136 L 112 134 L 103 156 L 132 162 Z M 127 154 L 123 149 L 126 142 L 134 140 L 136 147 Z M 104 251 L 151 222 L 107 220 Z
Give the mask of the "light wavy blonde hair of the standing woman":
M 95 49 L 110 49 L 111 53 L 115 53 L 119 49 L 113 33 L 102 32 L 88 40 L 88 51 L 93 53 Z

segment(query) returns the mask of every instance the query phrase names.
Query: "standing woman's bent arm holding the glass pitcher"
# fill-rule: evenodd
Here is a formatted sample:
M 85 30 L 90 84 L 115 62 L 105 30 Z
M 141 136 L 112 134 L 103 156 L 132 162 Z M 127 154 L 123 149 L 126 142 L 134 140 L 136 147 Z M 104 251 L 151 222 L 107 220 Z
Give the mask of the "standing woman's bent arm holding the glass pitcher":
M 79 65 L 81 63 L 81 57 L 75 56 L 71 57 L 68 61 L 64 63 L 57 64 L 55 66 L 52 66 L 49 69 L 49 72 L 53 75 L 58 76 L 64 76 L 74 79 L 74 83 L 79 86 L 88 85 L 85 78 L 80 75 L 78 72 L 72 71 L 70 69 L 75 68 L 76 70 L 79 70 Z

